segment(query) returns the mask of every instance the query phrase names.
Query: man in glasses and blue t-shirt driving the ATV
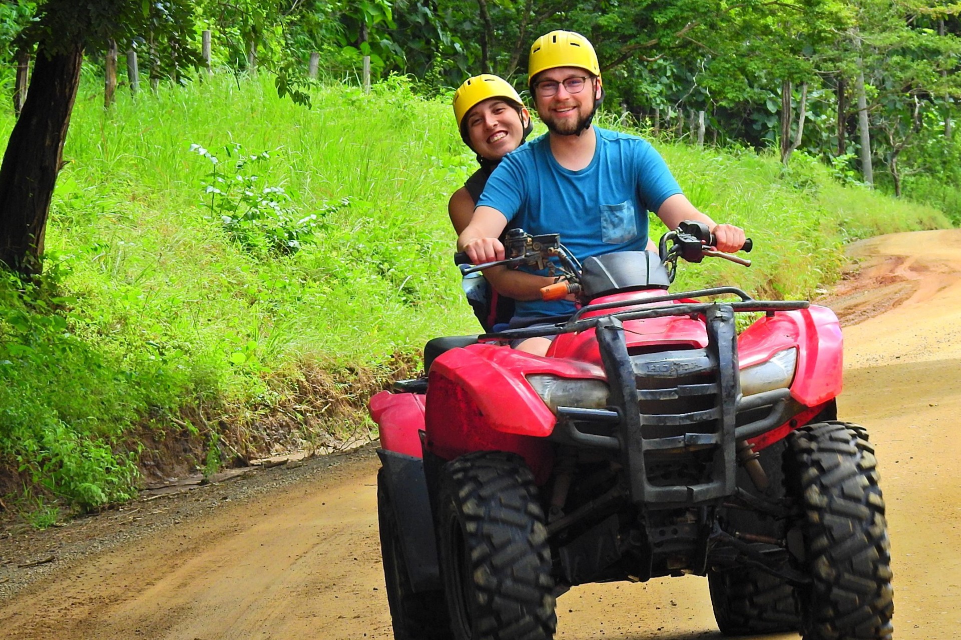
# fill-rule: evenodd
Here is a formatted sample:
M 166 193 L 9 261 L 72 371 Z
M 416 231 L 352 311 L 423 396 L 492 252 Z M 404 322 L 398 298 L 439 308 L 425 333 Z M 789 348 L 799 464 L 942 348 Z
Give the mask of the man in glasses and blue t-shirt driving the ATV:
M 457 240 L 474 264 L 504 259 L 498 238 L 507 225 L 535 235 L 563 229 L 565 245 L 580 260 L 643 250 L 648 210 L 671 229 L 685 220 L 702 222 L 717 238 L 717 249 L 741 249 L 744 231 L 717 225 L 698 211 L 648 142 L 591 124 L 604 87 L 587 38 L 567 31 L 537 38 L 530 48 L 528 82 L 549 132 L 507 155 L 487 180 L 474 217 Z M 574 311 L 571 301 L 541 300 L 539 287 L 519 280 L 516 272 L 498 268 L 484 275 L 500 294 L 519 301 L 516 325 Z M 517 348 L 543 355 L 549 345 L 546 338 L 534 338 Z

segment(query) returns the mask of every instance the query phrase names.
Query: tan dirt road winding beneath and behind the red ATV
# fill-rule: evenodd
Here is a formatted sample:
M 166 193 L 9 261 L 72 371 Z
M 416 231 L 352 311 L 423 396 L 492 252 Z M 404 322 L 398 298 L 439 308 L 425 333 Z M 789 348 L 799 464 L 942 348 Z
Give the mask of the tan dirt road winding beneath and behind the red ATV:
M 961 631 L 961 230 L 875 238 L 831 304 L 845 328 L 844 419 L 867 426 L 888 504 L 899 640 Z M 924 251 L 924 255 L 922 255 Z M 390 638 L 376 457 L 222 506 L 58 567 L 0 604 L 0 637 Z M 721 637 L 702 578 L 579 587 L 564 640 Z M 797 638 L 795 634 L 768 636 Z

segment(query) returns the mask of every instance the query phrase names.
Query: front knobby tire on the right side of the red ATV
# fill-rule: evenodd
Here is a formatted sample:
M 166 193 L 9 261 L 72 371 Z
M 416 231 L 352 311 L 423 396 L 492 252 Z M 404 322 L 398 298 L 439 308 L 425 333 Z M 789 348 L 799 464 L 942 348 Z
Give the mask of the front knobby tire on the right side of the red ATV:
M 788 445 L 785 483 L 802 511 L 789 548 L 813 580 L 797 589 L 804 640 L 889 640 L 891 550 L 867 431 L 822 422 Z

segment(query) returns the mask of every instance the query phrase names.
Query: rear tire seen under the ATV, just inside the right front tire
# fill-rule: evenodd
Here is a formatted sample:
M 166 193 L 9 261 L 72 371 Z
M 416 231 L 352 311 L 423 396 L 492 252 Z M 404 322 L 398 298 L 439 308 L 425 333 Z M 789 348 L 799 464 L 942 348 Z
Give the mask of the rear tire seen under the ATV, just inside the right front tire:
M 758 569 L 708 570 L 711 605 L 725 635 L 797 631 L 801 617 L 794 587 Z

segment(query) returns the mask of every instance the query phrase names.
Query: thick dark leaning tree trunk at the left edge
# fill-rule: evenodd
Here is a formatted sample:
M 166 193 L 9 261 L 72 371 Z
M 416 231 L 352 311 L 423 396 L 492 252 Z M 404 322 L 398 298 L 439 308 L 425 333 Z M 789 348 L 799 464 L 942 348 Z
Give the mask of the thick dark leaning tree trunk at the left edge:
M 0 165 L 0 262 L 24 275 L 43 267 L 50 199 L 83 59 L 80 44 L 52 58 L 37 52 L 27 101 Z

